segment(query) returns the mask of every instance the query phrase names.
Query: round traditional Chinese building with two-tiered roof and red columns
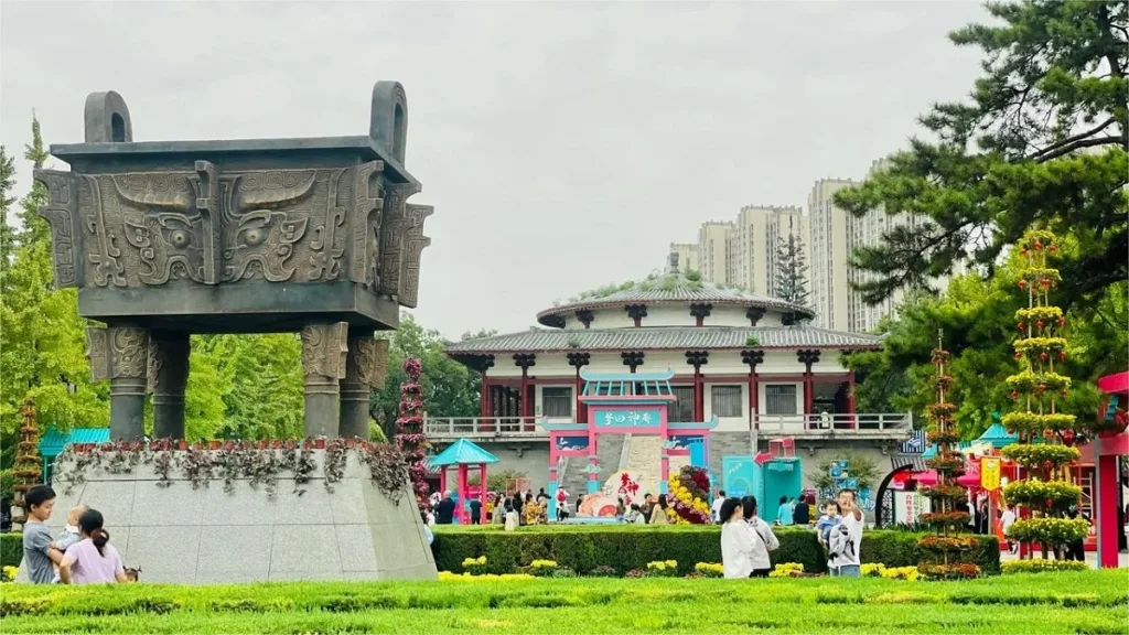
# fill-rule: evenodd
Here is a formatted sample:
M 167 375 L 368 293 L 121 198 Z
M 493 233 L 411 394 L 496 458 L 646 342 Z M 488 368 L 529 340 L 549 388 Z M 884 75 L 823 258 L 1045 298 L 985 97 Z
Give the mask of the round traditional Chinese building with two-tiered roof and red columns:
M 760 450 L 779 437 L 811 455 L 842 443 L 893 450 L 909 436 L 909 415 L 857 412 L 855 376 L 842 364 L 843 355 L 877 348 L 879 338 L 815 328 L 813 316 L 804 306 L 681 273 L 588 294 L 539 313 L 541 328 L 449 345 L 452 358 L 481 373 L 482 410 L 473 419 L 428 419 L 427 434 L 508 445 L 518 455 L 539 451 L 549 438 L 544 424 L 584 423 L 581 369 L 669 371 L 676 399 L 668 419 L 717 419 L 715 471 L 723 455 L 753 453 L 754 430 Z M 625 469 L 632 453 L 660 452 L 631 435 L 620 441 L 601 446 L 609 471 L 616 463 Z M 548 481 L 541 471 L 528 472 L 534 485 Z

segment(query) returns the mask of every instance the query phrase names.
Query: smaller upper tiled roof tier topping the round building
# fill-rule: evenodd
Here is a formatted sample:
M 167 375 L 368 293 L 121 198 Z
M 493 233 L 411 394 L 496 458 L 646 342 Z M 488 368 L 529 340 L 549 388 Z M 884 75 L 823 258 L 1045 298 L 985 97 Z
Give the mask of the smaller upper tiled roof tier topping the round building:
M 754 306 L 781 313 L 794 313 L 799 316 L 815 316 L 815 312 L 806 306 L 760 294 L 723 288 L 701 280 L 692 280 L 682 273 L 668 273 L 638 282 L 629 282 L 607 294 L 581 296 L 568 304 L 546 308 L 537 313 L 537 322 L 546 327 L 557 327 L 560 325 L 560 320 L 566 314 L 580 310 L 609 308 L 628 304 L 690 303 Z

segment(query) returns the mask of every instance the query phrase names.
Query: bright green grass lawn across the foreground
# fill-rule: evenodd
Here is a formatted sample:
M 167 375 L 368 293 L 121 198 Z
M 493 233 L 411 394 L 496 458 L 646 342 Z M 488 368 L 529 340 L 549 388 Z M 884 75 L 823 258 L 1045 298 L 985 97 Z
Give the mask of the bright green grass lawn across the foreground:
M 1129 633 L 1126 571 L 0 590 L 0 633 Z

